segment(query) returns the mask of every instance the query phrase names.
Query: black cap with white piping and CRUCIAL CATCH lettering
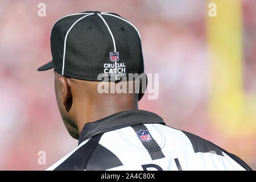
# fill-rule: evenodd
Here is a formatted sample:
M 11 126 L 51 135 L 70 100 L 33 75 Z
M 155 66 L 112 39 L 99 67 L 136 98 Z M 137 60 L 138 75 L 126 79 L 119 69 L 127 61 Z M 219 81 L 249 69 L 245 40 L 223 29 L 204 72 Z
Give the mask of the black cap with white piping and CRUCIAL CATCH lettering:
M 101 81 L 100 74 L 117 80 L 144 73 L 139 31 L 115 13 L 85 11 L 58 19 L 51 52 L 52 61 L 38 71 L 54 68 L 60 75 L 89 81 Z

